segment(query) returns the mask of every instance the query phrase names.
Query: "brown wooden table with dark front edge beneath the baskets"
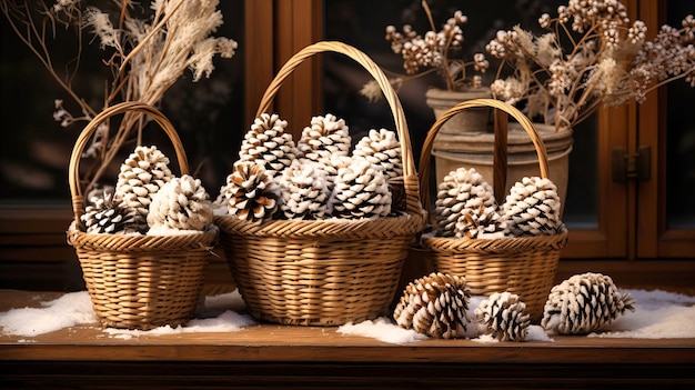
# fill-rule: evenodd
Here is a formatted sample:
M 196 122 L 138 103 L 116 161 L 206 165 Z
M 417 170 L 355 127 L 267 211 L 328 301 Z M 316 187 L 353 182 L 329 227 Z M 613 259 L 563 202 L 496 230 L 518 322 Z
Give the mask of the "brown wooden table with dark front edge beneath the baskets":
M 57 296 L 0 290 L 0 311 Z M 124 340 L 80 326 L 0 336 L 0 388 L 695 388 L 695 339 L 554 339 L 391 344 L 335 328 L 255 324 Z

